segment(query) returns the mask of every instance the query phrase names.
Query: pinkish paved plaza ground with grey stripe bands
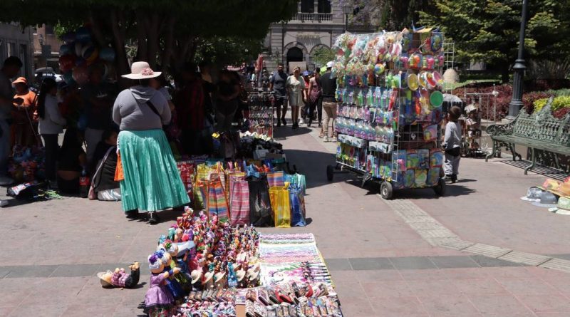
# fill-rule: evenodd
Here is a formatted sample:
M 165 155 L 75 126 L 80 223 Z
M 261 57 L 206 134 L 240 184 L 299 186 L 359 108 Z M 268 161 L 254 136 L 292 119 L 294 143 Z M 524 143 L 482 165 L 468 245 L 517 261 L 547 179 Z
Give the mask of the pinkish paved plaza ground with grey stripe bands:
M 570 316 L 570 218 L 519 199 L 544 177 L 462 159 L 446 197 L 425 189 L 385 202 L 352 175 L 327 182 L 335 145 L 289 127 L 277 136 L 307 177 L 309 224 L 260 231 L 313 232 L 346 316 Z M 144 266 L 139 289 L 102 289 L 95 274 L 144 261 L 177 216 L 151 227 L 120 204 L 78 198 L 0 212 L 0 316 L 142 314 Z M 537 267 L 549 261 L 554 269 Z

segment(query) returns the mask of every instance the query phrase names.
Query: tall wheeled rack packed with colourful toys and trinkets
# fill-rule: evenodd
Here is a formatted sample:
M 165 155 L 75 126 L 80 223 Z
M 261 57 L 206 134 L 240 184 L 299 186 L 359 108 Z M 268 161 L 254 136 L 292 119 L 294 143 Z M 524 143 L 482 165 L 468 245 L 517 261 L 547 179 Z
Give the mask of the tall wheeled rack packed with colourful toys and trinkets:
M 333 72 L 338 133 L 336 169 L 380 182 L 383 198 L 393 189 L 433 187 L 442 152 L 443 34 L 431 29 L 337 38 Z M 365 67 L 362 67 L 365 66 Z M 332 180 L 335 167 L 327 167 Z

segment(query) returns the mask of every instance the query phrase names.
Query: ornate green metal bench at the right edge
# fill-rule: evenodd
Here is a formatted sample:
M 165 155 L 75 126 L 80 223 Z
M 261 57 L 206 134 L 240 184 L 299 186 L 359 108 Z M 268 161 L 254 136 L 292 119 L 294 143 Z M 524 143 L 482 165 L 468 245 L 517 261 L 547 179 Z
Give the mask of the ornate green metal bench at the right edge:
M 524 174 L 531 170 L 537 162 L 549 160 L 554 167 L 561 168 L 559 155 L 570 155 L 570 115 L 556 119 L 551 115 L 552 98 L 540 111 L 528 114 L 521 110 L 517 118 L 506 125 L 489 125 L 487 133 L 493 140 L 493 150 L 485 157 L 485 162 L 489 157 L 494 157 L 501 147 L 506 147 L 512 152 L 512 159 L 516 160 L 519 155 L 514 150 L 514 145 L 524 145 L 529 148 L 531 164 L 524 169 Z M 568 167 L 564 167 L 568 170 Z

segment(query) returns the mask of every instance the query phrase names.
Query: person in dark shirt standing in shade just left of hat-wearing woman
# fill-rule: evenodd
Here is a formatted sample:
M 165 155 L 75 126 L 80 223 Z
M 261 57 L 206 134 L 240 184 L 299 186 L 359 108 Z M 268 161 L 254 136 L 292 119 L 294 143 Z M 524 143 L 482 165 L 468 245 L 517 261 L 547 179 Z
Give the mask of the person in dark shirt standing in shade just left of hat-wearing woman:
M 87 115 L 85 140 L 87 143 L 87 161 L 90 163 L 95 148 L 103 132 L 112 125 L 114 87 L 103 81 L 103 67 L 93 64 L 89 68 L 89 83 L 81 88 L 81 95 Z

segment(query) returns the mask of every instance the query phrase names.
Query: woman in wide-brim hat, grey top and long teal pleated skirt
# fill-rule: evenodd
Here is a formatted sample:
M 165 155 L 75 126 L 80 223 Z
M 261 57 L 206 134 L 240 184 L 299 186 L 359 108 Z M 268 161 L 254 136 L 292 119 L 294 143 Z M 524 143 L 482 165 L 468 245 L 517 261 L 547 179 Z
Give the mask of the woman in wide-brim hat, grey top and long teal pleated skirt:
M 123 211 L 127 217 L 148 212 L 157 224 L 157 211 L 190 202 L 162 125 L 170 122 L 170 108 L 162 93 L 150 87 L 160 76 L 146 62 L 135 62 L 124 78 L 135 82 L 119 93 L 113 121 L 120 126 L 118 149 L 124 179 L 120 180 Z

